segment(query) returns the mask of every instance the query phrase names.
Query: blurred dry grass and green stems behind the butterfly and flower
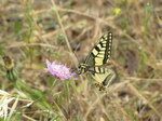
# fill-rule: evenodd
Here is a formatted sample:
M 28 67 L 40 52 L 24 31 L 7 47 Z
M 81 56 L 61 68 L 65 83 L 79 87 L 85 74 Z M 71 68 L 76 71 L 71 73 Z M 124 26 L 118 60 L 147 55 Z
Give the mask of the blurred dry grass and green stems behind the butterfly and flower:
M 0 2 L 0 52 L 18 72 L 16 82 L 8 81 L 0 59 L 1 90 L 19 96 L 12 121 L 161 120 L 161 0 Z M 107 31 L 113 33 L 109 65 L 117 72 L 108 93 L 84 77 L 60 81 L 44 70 L 45 58 L 76 68 L 77 57 L 82 62 Z

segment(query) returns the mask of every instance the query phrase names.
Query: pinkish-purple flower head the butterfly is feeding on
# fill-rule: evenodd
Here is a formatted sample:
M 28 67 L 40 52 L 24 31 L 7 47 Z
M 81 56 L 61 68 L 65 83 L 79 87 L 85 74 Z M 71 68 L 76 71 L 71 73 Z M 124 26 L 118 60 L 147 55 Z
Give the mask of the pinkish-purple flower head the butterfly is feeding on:
M 75 72 L 70 72 L 70 68 L 67 68 L 65 65 L 58 65 L 56 62 L 50 63 L 46 59 L 46 66 L 50 73 L 60 80 L 71 79 L 76 75 Z

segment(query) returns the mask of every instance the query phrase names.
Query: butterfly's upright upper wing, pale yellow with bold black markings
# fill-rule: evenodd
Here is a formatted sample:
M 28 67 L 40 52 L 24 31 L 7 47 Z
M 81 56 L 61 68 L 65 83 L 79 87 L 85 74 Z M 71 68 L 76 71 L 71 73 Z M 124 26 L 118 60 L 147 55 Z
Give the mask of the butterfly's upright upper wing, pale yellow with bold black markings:
M 107 32 L 100 37 L 98 42 L 91 50 L 83 64 L 87 67 L 103 66 L 108 63 L 111 54 L 112 33 Z

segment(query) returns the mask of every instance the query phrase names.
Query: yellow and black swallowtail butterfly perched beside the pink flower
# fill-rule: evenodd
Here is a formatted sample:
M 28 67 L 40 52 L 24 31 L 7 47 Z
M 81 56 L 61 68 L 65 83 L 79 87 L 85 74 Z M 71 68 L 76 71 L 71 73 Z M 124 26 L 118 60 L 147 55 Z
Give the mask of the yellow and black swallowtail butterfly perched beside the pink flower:
M 116 78 L 114 71 L 105 67 L 110 59 L 111 46 L 112 32 L 107 32 L 100 37 L 84 62 L 78 66 L 78 73 L 86 73 L 89 79 L 95 81 L 99 91 L 106 91 Z

